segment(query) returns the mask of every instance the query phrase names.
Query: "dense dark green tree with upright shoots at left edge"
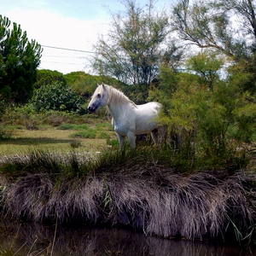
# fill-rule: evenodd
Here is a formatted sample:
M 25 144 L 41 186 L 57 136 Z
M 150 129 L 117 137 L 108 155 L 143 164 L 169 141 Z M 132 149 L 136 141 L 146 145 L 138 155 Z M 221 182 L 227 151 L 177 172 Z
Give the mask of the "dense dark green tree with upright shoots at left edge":
M 28 41 L 20 25 L 0 15 L 0 96 L 7 102 L 26 102 L 32 96 L 42 49 Z

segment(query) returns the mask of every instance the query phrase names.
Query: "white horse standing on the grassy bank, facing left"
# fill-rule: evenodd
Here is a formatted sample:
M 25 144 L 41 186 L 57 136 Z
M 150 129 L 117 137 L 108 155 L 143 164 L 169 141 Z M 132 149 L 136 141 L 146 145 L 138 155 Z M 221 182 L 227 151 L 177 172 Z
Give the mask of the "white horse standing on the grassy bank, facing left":
M 128 137 L 131 148 L 135 148 L 136 135 L 148 132 L 151 132 L 154 143 L 158 143 L 157 117 L 160 113 L 160 103 L 136 105 L 121 91 L 102 83 L 97 84 L 88 110 L 95 112 L 103 106 L 107 106 L 112 115 L 112 126 L 119 139 L 120 148 L 124 148 L 125 136 Z

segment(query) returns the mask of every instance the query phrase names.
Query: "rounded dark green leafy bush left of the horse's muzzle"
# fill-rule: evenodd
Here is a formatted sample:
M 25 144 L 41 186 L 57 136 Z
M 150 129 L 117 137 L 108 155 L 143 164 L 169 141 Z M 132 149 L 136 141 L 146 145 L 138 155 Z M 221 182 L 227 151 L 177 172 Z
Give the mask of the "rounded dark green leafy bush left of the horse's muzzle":
M 31 103 L 37 113 L 50 109 L 78 113 L 83 110 L 84 99 L 66 84 L 55 82 L 35 90 Z

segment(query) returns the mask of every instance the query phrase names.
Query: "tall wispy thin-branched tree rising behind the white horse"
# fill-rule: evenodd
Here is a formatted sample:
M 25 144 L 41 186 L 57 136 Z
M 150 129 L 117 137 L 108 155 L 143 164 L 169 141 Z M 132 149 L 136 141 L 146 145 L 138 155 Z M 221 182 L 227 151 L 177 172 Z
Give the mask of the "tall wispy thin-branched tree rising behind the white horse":
M 181 52 L 175 44 L 167 44 L 169 22 L 165 12 L 157 13 L 152 0 L 140 7 L 133 0 L 124 1 L 125 14 L 112 15 L 108 38 L 95 45 L 93 67 L 101 74 L 125 84 L 135 84 L 136 94 L 147 91 L 158 77 L 160 63 L 177 65 Z M 148 96 L 143 93 L 143 100 Z

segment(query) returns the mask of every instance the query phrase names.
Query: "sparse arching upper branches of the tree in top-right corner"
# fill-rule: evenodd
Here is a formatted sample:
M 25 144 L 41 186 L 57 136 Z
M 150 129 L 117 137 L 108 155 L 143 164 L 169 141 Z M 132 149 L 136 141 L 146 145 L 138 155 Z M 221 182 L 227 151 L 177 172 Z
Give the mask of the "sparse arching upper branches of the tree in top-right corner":
M 253 2 L 197 0 L 190 4 L 189 0 L 179 0 L 173 8 L 172 28 L 189 44 L 218 49 L 225 55 L 239 59 L 247 55 L 249 46 L 253 45 L 247 38 L 252 38 L 253 43 L 256 39 Z

